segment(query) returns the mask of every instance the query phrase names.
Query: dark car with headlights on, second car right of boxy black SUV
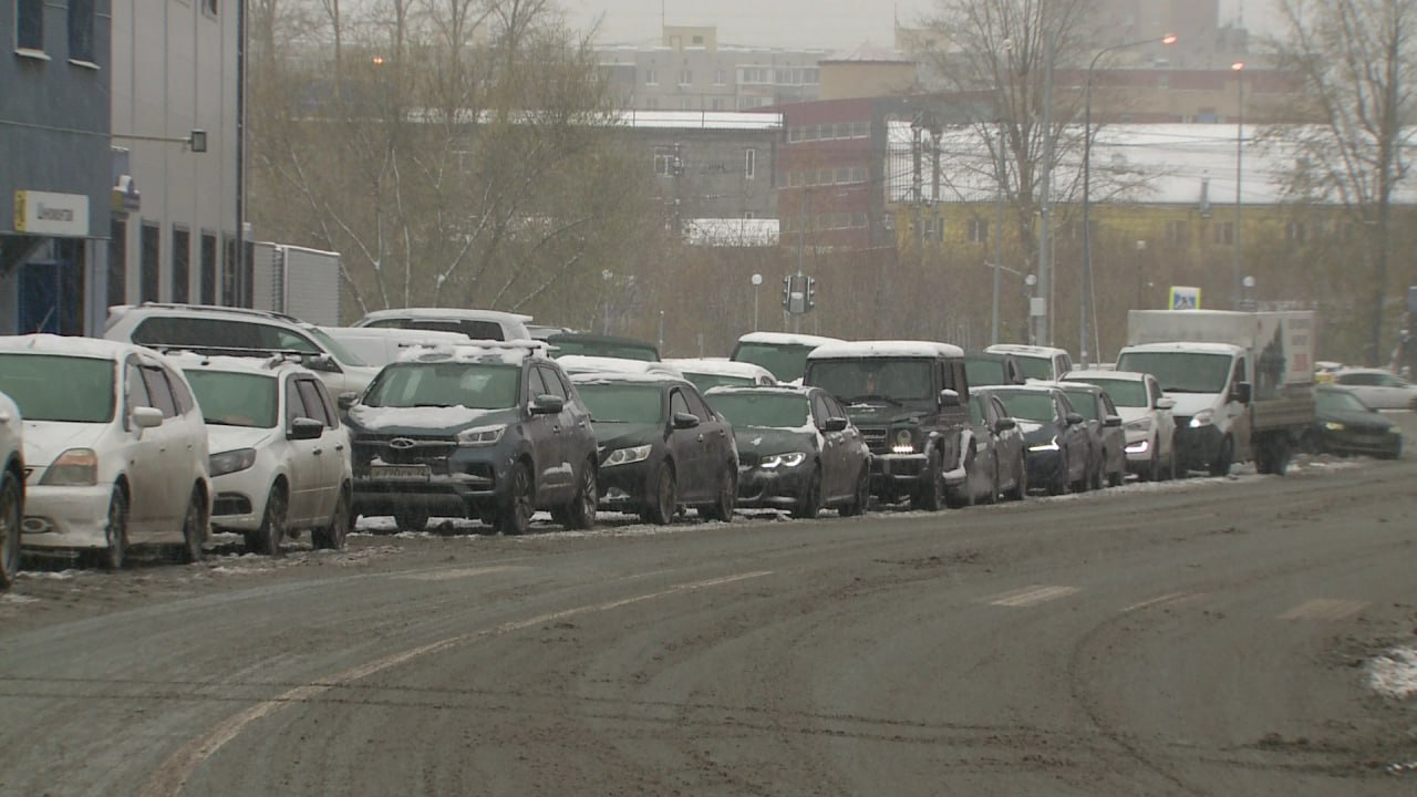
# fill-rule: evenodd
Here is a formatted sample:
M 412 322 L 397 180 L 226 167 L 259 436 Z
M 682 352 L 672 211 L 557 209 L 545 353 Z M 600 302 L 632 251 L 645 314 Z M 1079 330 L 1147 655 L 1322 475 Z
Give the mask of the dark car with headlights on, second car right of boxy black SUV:
M 985 390 L 1003 403 L 1023 431 L 1030 486 L 1041 486 L 1049 495 L 1087 488 L 1087 428 L 1061 390 L 1046 384 Z

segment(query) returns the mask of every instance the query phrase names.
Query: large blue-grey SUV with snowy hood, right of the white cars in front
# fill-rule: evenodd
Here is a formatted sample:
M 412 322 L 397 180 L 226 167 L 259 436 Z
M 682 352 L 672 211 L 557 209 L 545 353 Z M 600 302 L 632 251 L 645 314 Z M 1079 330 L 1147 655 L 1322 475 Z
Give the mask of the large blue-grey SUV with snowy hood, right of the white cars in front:
M 591 416 L 543 343 L 446 346 L 384 367 L 344 400 L 354 448 L 354 512 L 422 529 L 429 515 L 527 530 L 548 509 L 595 523 Z

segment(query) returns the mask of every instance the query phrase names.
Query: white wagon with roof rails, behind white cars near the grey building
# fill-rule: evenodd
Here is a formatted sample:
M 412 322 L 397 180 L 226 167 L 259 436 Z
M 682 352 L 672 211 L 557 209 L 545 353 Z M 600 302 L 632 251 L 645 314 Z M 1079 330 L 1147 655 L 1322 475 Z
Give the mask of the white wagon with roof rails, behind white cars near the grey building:
M 268 357 L 295 352 L 330 394 L 359 393 L 378 373 L 313 323 L 268 311 L 145 302 L 108 309 L 103 338 L 157 350 Z

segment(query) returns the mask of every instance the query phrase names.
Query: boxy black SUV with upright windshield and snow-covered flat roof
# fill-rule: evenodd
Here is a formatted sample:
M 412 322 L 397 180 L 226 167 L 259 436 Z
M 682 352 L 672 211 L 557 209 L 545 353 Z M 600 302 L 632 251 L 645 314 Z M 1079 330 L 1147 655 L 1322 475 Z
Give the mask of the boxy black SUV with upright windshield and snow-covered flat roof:
M 937 511 L 964 498 L 973 447 L 964 350 L 928 340 L 829 343 L 808 355 L 803 384 L 846 404 L 871 450 L 871 495 Z

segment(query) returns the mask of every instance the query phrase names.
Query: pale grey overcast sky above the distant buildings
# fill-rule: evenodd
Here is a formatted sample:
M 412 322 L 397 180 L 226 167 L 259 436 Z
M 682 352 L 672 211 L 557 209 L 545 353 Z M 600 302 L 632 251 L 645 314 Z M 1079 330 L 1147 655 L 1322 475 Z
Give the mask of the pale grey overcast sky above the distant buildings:
M 599 41 L 650 44 L 659 40 L 660 18 L 672 26 L 711 24 L 723 44 L 768 47 L 849 48 L 871 41 L 888 45 L 893 18 L 917 20 L 934 0 L 560 0 L 571 24 L 587 28 L 604 14 Z M 1264 30 L 1272 17 L 1271 0 L 1221 0 L 1223 23 L 1244 6 L 1251 30 Z M 660 17 L 663 11 L 663 17 Z

